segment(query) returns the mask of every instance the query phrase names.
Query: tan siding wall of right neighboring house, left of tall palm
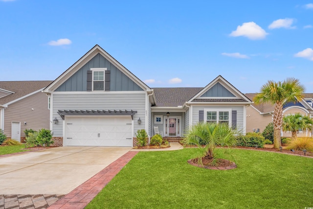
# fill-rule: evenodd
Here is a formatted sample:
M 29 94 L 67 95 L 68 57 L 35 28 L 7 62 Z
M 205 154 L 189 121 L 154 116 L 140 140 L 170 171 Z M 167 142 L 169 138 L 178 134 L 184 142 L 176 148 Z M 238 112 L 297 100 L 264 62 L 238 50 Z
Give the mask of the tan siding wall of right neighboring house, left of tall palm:
M 271 121 L 271 115 L 261 116 L 253 107 L 246 107 L 246 132 L 253 132 L 253 129 L 260 129 L 260 133 L 262 133 Z

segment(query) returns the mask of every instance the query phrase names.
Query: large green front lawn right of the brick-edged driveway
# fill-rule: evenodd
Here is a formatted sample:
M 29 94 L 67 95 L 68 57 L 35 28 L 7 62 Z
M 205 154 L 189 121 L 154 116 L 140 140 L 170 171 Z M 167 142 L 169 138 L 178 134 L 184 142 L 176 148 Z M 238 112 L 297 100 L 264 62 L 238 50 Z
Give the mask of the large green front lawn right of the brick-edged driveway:
M 139 152 L 87 209 L 313 207 L 312 158 L 234 149 L 220 171 L 189 165 L 195 151 Z

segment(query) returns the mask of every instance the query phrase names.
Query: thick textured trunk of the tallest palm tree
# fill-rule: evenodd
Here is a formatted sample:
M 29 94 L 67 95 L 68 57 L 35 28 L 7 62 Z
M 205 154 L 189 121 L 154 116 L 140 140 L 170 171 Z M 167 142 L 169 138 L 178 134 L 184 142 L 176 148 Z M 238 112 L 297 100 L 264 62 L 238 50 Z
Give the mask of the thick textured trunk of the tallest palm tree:
M 281 143 L 280 130 L 283 124 L 283 103 L 276 101 L 275 109 L 273 113 L 273 125 L 274 125 L 274 148 L 279 149 Z

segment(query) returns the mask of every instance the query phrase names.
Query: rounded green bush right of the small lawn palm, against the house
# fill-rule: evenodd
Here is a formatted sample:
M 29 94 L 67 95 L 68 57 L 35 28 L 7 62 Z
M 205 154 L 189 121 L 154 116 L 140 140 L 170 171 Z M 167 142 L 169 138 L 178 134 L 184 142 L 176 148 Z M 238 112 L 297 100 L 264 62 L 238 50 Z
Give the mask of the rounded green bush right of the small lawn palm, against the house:
M 260 133 L 246 133 L 246 136 L 238 136 L 237 146 L 246 146 L 246 147 L 255 147 L 256 145 L 259 148 L 264 147 L 264 137 Z

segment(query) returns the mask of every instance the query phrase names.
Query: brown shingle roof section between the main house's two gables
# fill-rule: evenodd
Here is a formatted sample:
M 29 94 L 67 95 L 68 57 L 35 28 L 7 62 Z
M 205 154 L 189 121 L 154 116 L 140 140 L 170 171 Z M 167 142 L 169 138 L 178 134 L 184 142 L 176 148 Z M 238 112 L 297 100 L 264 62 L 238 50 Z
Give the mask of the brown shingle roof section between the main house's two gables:
M 156 97 L 156 107 L 182 106 L 203 88 L 152 88 Z

